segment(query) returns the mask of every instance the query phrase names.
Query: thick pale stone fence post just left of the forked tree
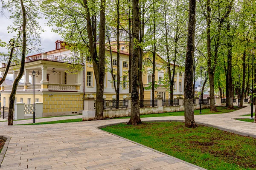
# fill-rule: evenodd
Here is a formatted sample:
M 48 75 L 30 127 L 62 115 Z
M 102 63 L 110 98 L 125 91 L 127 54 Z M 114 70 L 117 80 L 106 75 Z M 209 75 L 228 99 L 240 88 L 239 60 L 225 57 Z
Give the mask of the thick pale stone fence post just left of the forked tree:
M 93 120 L 95 117 L 94 97 L 84 97 L 83 121 Z

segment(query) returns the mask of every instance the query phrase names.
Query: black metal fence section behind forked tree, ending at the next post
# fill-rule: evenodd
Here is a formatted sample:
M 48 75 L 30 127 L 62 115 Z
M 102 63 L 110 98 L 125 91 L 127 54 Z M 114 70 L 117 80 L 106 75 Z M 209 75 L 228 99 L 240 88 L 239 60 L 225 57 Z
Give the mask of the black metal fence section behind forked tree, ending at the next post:
M 94 109 L 96 105 L 96 100 L 94 100 Z M 119 109 L 128 108 L 128 100 L 104 100 L 103 109 Z

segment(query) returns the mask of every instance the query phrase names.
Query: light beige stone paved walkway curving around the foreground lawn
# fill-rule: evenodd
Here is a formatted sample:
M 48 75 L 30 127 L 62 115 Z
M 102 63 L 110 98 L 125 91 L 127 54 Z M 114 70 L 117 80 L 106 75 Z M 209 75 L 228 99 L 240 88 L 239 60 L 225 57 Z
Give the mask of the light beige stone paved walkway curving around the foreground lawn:
M 226 130 L 256 135 L 256 125 L 234 120 L 250 113 L 250 107 L 225 114 L 197 115 L 197 122 L 219 126 Z M 65 116 L 36 119 L 46 122 L 60 119 L 77 119 Z M 240 117 L 241 118 L 241 117 Z M 184 116 L 143 118 L 143 121 L 183 120 Z M 158 153 L 128 140 L 113 136 L 97 127 L 125 122 L 128 119 L 111 119 L 90 122 L 73 122 L 51 125 L 6 126 L 0 122 L 0 133 L 12 139 L 3 159 L 3 170 L 198 170 L 172 156 Z M 14 124 L 32 120 L 14 121 Z

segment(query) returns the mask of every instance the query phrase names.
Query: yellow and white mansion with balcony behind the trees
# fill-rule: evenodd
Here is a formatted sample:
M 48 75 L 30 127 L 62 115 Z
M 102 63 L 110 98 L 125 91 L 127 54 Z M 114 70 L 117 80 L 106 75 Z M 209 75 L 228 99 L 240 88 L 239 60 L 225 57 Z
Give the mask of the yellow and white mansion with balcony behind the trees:
M 93 94 L 96 96 L 96 81 L 93 74 L 93 65 L 90 58 L 84 62 L 84 69 L 77 74 L 69 74 L 67 72 L 67 59 L 72 56 L 70 50 L 61 45 L 61 41 L 55 42 L 55 50 L 48 51 L 42 54 L 36 54 L 26 57 L 25 70 L 23 81 L 17 87 L 16 102 L 23 102 L 26 104 L 33 103 L 33 82 L 32 71 L 35 75 L 35 102 L 43 102 L 43 117 L 79 114 L 84 107 L 83 98 L 85 94 Z M 113 42 L 114 46 L 114 42 Z M 129 68 L 129 53 L 126 42 L 121 42 L 120 45 L 120 99 L 128 97 L 128 68 Z M 117 60 L 116 49 L 112 52 L 113 70 L 116 72 Z M 106 52 L 106 57 L 109 60 L 108 68 L 110 66 L 109 51 Z M 155 72 L 155 81 L 163 79 L 166 69 L 163 68 L 164 60 L 157 58 L 157 71 Z M 0 71 L 5 71 L 6 65 L 3 64 Z M 17 65 L 12 65 L 8 74 L 12 74 L 13 79 L 17 77 L 19 68 Z M 116 98 L 111 81 L 111 73 L 105 74 L 105 89 L 104 99 L 112 100 Z M 144 87 L 152 81 L 150 66 L 143 73 Z M 160 86 L 155 89 L 155 93 L 161 93 L 164 99 L 169 99 L 167 88 L 164 88 L 160 82 Z M 181 91 L 179 91 L 179 85 Z M 174 96 L 183 96 L 183 75 L 177 74 L 175 79 Z M 5 82 L 1 85 L 1 104 L 2 106 L 9 106 L 9 95 L 12 91 L 12 85 L 6 85 Z M 145 90 L 145 99 L 151 99 L 151 90 Z

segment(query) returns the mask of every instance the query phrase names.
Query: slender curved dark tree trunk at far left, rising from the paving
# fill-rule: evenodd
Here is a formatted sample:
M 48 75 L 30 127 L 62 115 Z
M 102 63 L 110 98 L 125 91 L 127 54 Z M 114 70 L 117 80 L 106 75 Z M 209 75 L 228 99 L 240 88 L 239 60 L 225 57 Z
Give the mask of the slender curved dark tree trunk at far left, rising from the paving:
M 20 72 L 17 75 L 16 79 L 12 85 L 12 92 L 10 94 L 9 99 L 9 113 L 8 113 L 8 125 L 13 125 L 13 112 L 14 112 L 14 102 L 15 102 L 15 95 L 18 87 L 18 83 L 23 76 L 24 68 L 25 68 L 25 57 L 26 57 L 26 9 L 23 5 L 23 0 L 20 0 L 20 5 L 22 9 L 22 53 L 21 53 L 21 63 L 20 63 Z

